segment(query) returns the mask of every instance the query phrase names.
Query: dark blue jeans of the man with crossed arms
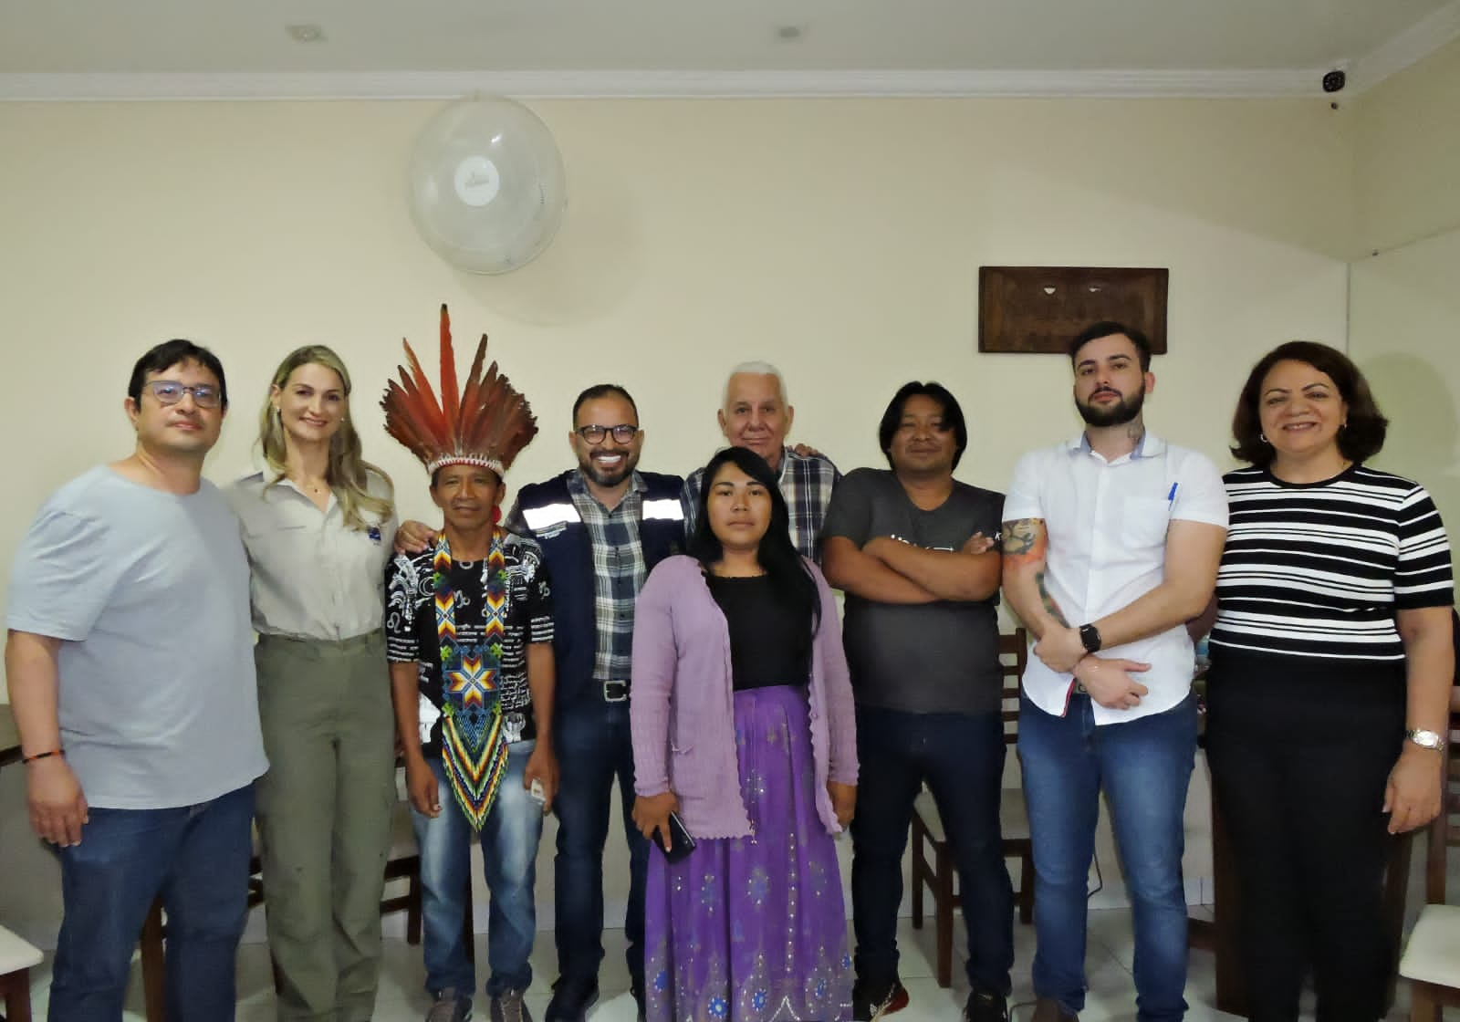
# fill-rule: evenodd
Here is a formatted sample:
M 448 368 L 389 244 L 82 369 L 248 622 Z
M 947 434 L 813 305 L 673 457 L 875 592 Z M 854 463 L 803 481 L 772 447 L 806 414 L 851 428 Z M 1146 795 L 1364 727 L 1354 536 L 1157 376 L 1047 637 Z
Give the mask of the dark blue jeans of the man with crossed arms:
M 851 819 L 851 914 L 857 978 L 880 987 L 898 974 L 902 851 L 912 800 L 927 781 L 953 847 L 968 931 L 968 983 L 1007 996 L 1013 888 L 999 832 L 1003 718 L 857 707 L 857 815 Z

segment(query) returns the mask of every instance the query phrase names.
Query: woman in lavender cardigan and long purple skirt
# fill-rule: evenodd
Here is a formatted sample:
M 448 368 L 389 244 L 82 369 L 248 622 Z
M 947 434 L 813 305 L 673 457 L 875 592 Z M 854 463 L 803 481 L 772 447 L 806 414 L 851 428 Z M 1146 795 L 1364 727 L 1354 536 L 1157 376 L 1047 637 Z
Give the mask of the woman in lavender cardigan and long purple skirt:
M 647 1013 L 850 1019 L 851 959 L 832 835 L 857 799 L 837 604 L 791 546 L 775 474 L 731 447 L 705 469 L 694 556 L 663 561 L 634 623 L 634 822 L 653 856 Z

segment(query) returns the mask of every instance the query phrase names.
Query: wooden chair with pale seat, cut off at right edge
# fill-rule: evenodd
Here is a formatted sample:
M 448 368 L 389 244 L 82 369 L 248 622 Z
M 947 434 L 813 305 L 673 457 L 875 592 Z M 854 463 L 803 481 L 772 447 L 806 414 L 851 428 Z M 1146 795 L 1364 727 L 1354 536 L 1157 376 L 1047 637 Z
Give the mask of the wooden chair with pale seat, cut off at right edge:
M 1450 714 L 1444 804 L 1429 825 L 1425 856 L 1425 910 L 1409 934 L 1399 974 L 1409 980 L 1409 1018 L 1440 1022 L 1460 1007 L 1460 905 L 1445 904 L 1447 851 L 1460 845 L 1460 714 Z

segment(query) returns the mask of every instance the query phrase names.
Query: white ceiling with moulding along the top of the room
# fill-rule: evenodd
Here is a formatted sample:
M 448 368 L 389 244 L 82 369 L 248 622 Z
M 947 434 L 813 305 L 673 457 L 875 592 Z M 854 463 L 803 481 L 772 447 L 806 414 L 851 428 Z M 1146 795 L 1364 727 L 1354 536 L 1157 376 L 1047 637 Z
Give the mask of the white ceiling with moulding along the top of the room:
M 1317 95 L 1456 35 L 1460 0 L 0 0 L 0 98 Z

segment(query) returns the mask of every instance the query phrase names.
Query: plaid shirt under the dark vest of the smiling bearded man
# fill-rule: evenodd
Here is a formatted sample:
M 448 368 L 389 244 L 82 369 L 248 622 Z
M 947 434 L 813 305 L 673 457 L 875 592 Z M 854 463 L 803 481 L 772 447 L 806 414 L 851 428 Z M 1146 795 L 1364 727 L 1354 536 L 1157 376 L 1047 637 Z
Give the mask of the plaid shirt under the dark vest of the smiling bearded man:
M 593 548 L 593 620 L 599 641 L 593 676 L 600 682 L 626 680 L 634 651 L 634 602 L 644 587 L 644 546 L 638 523 L 648 486 L 634 473 L 629 492 L 609 511 L 588 492 L 581 472 L 568 476 L 568 493 L 588 530 Z

